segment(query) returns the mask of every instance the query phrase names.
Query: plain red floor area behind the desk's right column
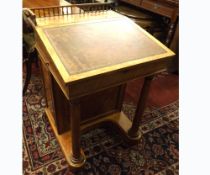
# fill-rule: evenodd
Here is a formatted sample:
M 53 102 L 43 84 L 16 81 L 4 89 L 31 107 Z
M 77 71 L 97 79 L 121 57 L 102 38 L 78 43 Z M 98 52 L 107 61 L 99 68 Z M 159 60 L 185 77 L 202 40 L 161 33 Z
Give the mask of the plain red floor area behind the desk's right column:
M 125 101 L 137 104 L 144 79 L 138 78 L 127 84 Z M 179 76 L 158 75 L 151 84 L 147 106 L 162 107 L 179 99 Z

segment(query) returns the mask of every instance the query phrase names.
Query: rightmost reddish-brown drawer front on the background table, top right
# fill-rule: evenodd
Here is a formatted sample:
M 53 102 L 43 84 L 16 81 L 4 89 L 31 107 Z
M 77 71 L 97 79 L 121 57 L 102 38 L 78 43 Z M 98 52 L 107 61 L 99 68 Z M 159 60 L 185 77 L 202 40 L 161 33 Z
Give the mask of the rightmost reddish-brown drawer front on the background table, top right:
M 173 7 L 157 2 L 157 0 L 143 0 L 141 7 L 167 17 L 172 17 L 174 13 Z

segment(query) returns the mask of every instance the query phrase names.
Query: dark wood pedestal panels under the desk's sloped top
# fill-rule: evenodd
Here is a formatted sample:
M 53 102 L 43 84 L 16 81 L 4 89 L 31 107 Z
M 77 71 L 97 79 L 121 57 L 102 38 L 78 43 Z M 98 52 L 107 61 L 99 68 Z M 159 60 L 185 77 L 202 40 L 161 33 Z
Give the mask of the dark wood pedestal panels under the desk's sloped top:
M 56 80 L 52 77 L 52 90 L 54 99 L 54 118 L 59 134 L 63 134 L 71 129 L 70 103 L 60 89 Z M 90 95 L 77 98 L 80 102 L 81 124 L 92 121 L 97 118 L 103 118 L 106 115 L 119 112 L 122 107 L 125 85 L 119 85 L 108 88 Z

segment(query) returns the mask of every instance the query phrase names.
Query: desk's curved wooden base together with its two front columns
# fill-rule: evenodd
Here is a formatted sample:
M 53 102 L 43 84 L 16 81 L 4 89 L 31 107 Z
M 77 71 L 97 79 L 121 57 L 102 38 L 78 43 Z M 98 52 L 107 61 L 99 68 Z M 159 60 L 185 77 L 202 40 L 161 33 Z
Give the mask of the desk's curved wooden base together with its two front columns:
M 117 111 L 103 117 L 97 117 L 96 119 L 86 123 L 81 123 L 81 98 L 70 100 L 71 128 L 69 131 L 62 134 L 58 133 L 56 122 L 54 120 L 55 117 L 53 117 L 51 110 L 49 110 L 49 108 L 45 109 L 55 136 L 72 170 L 81 168 L 86 161 L 85 154 L 80 145 L 81 132 L 86 132 L 87 130 L 99 125 L 111 123 L 113 124 L 112 126 L 119 129 L 122 137 L 126 141 L 132 143 L 132 141 L 137 141 L 140 139 L 141 133 L 139 133 L 139 125 L 141 123 L 141 116 L 144 112 L 152 78 L 153 76 L 145 78 L 133 122 L 131 122 L 122 111 L 120 111 L 125 85 L 121 86 L 118 96 L 119 102 L 116 105 L 116 108 L 118 109 Z

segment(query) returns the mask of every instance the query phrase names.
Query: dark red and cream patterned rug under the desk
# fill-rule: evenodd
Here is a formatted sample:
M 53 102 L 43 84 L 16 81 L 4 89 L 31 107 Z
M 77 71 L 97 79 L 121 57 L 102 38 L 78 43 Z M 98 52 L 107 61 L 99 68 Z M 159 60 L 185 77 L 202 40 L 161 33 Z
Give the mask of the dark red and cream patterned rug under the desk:
M 43 84 L 36 74 L 23 98 L 23 174 L 178 175 L 178 101 L 160 109 L 146 109 L 140 126 L 143 137 L 136 145 L 127 145 L 108 126 L 83 134 L 81 145 L 87 161 L 74 173 L 44 114 L 45 105 Z M 135 106 L 124 104 L 123 111 L 132 120 Z

